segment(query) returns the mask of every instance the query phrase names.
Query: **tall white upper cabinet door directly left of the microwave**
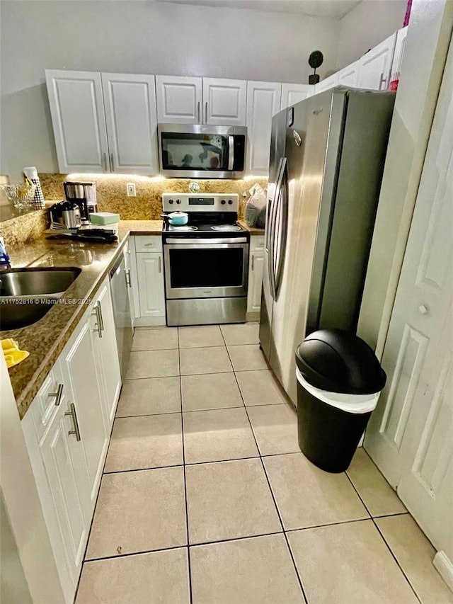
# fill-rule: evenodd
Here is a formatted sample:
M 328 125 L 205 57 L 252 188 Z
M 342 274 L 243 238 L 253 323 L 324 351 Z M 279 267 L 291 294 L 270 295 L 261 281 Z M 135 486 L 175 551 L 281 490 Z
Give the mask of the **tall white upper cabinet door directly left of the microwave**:
M 154 76 L 101 74 L 110 170 L 158 171 Z

